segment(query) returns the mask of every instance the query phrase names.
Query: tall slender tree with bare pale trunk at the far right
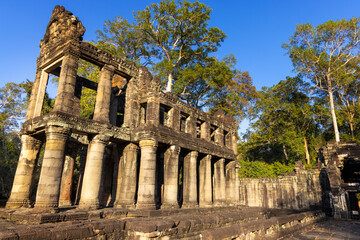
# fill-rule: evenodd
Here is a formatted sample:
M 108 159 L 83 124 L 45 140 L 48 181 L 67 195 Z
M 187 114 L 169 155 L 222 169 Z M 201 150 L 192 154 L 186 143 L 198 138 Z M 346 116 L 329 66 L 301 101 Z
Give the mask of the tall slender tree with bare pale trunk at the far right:
M 359 63 L 360 18 L 328 21 L 317 27 L 299 24 L 287 50 L 294 68 L 310 79 L 314 87 L 329 96 L 335 140 L 340 141 L 334 93 L 349 84 Z

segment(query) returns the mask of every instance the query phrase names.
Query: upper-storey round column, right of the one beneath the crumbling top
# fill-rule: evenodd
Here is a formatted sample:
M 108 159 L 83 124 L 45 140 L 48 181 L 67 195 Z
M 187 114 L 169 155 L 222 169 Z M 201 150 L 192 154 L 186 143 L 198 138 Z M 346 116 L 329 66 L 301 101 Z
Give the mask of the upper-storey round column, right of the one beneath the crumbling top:
M 111 65 L 105 65 L 99 76 L 99 84 L 96 93 L 96 102 L 94 110 L 94 120 L 109 123 L 111 84 L 115 68 Z

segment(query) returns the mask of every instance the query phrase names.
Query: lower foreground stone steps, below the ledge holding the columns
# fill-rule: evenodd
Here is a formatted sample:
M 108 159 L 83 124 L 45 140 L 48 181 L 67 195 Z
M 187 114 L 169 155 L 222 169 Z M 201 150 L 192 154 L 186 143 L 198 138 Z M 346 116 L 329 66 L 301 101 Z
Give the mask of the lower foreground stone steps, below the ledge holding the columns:
M 0 219 L 0 239 L 233 239 L 239 236 L 274 239 L 324 217 L 319 211 L 238 207 L 224 210 L 44 224 Z

